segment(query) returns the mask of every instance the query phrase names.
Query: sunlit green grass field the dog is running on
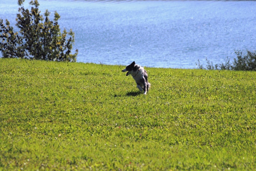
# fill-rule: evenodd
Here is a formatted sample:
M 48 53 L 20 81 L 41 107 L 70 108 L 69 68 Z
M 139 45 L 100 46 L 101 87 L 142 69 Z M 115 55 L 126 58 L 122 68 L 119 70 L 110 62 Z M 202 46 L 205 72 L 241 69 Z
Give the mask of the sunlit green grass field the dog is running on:
M 0 170 L 256 169 L 256 72 L 122 69 L 0 59 Z

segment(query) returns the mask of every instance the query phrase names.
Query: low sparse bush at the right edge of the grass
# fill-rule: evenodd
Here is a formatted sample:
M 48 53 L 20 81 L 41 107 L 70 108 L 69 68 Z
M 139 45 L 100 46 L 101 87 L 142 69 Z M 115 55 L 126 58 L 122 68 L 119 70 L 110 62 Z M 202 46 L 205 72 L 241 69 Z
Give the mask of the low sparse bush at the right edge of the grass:
M 216 69 L 216 70 L 234 70 L 234 71 L 256 71 L 256 53 L 247 50 L 247 54 L 243 56 L 242 51 L 235 51 L 236 58 L 234 58 L 233 64 L 230 63 L 230 58 L 227 57 L 225 64 L 215 64 L 208 61 L 206 58 L 206 68 L 204 68 L 198 60 L 199 69 Z

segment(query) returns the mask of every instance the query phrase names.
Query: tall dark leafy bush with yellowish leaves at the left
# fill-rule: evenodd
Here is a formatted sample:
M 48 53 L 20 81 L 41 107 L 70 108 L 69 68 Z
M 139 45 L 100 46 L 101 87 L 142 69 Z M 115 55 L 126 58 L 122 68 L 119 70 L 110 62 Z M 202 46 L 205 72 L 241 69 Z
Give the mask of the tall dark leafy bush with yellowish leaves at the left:
M 60 32 L 58 19 L 60 15 L 55 11 L 54 22 L 49 20 L 50 12 L 45 11 L 43 18 L 40 15 L 37 0 L 31 1 L 31 11 L 24 9 L 25 0 L 18 0 L 19 14 L 17 14 L 16 26 L 20 29 L 13 31 L 9 21 L 0 19 L 0 51 L 3 58 L 22 58 L 46 61 L 76 61 L 78 50 L 71 54 L 74 43 L 74 32 L 64 29 Z M 66 39 L 67 35 L 70 37 Z

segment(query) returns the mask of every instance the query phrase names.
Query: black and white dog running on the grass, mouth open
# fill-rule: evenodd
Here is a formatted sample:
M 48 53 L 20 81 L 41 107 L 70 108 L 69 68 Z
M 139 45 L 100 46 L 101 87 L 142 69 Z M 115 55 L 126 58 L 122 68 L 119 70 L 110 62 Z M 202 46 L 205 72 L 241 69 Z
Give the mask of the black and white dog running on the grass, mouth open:
M 127 65 L 125 69 L 122 70 L 126 72 L 126 76 L 132 75 L 132 78 L 137 83 L 137 87 L 140 91 L 143 91 L 144 94 L 147 94 L 148 89 L 150 88 L 150 83 L 148 82 L 148 73 L 140 65 L 135 64 L 133 61 L 130 65 Z

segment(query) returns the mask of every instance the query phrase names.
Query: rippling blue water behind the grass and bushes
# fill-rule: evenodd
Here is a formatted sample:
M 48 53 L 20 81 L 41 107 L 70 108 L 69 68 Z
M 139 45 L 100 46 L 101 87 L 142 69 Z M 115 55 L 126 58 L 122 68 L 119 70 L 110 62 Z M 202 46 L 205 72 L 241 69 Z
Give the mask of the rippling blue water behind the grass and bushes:
M 30 0 L 29 0 L 30 1 Z M 29 8 L 28 0 L 25 7 Z M 196 68 L 255 50 L 256 1 L 39 0 L 75 32 L 78 62 Z M 17 0 L 0 2 L 0 17 L 15 24 Z

